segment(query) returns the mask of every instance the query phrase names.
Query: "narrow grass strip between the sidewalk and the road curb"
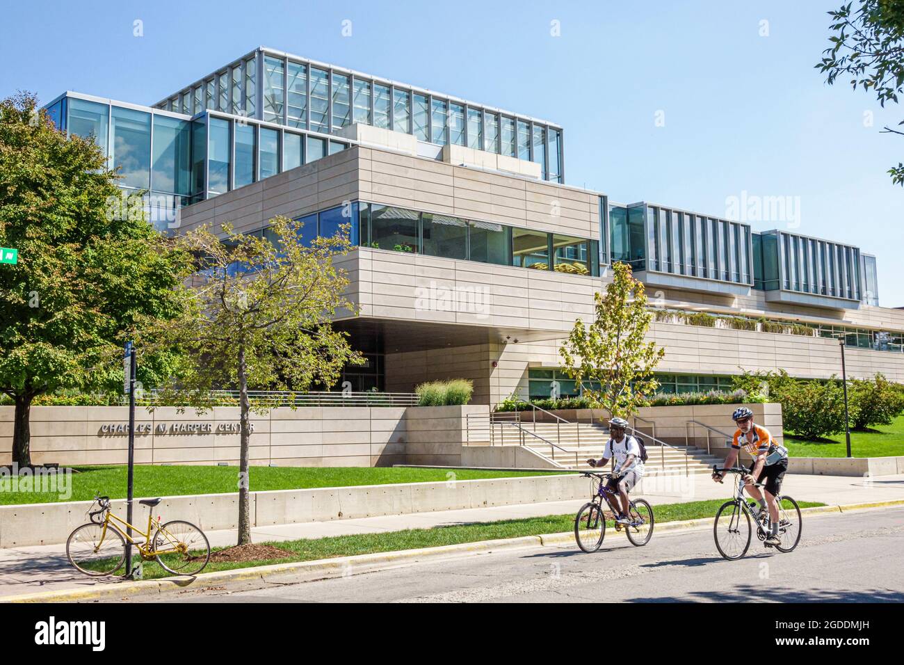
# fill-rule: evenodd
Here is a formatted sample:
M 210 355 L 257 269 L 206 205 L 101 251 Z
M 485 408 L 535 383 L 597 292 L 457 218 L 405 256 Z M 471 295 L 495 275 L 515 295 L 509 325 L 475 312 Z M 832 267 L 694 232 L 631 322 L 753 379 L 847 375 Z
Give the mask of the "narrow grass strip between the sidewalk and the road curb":
M 680 521 L 683 519 L 715 518 L 716 510 L 726 499 L 709 501 L 691 501 L 688 503 L 670 503 L 654 506 L 654 518 L 657 524 Z M 800 508 L 824 506 L 814 501 L 799 501 Z M 613 527 L 612 522 L 607 522 Z M 325 538 L 303 538 L 299 540 L 272 541 L 263 543 L 285 549 L 293 556 L 273 558 L 240 563 L 211 562 L 204 568 L 204 573 L 218 570 L 247 568 L 257 565 L 286 564 L 293 561 L 314 561 L 315 559 L 333 558 L 336 556 L 353 556 L 372 554 L 374 552 L 395 552 L 402 549 L 419 547 L 438 547 L 457 545 L 459 543 L 475 543 L 480 540 L 497 538 L 513 538 L 521 536 L 539 536 L 569 532 L 574 529 L 574 515 L 549 515 L 541 518 L 505 519 L 499 522 L 476 522 L 474 524 L 453 525 L 448 527 L 412 528 L 404 531 L 390 531 L 376 534 L 357 534 L 353 536 L 334 536 Z M 616 532 L 607 528 L 607 537 Z M 617 534 L 616 537 L 622 537 Z M 655 529 L 654 529 L 655 537 Z M 213 551 L 222 549 L 213 548 Z M 155 579 L 170 576 L 155 562 L 145 562 L 144 578 Z M 202 573 L 203 575 L 203 573 Z

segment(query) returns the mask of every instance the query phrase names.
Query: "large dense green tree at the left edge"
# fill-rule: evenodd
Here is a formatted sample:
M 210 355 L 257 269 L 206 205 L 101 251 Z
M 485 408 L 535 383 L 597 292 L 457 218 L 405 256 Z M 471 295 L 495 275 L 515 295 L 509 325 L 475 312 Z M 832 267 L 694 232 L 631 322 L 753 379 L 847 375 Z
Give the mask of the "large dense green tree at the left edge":
M 35 396 L 122 385 L 121 344 L 138 316 L 177 316 L 187 266 L 137 205 L 91 138 L 58 131 L 33 95 L 0 102 L 0 391 L 15 404 L 13 460 L 31 460 Z M 132 199 L 135 204 L 136 200 Z M 109 362 L 110 358 L 118 358 Z M 149 360 L 165 371 L 165 355 Z

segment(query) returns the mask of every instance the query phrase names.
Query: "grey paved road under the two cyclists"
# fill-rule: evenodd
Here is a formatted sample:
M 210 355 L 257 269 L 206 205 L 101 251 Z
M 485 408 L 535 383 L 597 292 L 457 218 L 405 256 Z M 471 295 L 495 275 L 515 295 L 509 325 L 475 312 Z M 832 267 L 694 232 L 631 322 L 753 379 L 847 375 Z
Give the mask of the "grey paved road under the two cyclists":
M 593 555 L 570 546 L 527 547 L 318 581 L 286 577 L 266 588 L 186 590 L 160 600 L 900 603 L 904 508 L 808 516 L 795 552 L 767 550 L 755 539 L 748 556 L 735 562 L 720 558 L 710 529 L 664 532 L 642 548 L 608 531 L 603 548 Z

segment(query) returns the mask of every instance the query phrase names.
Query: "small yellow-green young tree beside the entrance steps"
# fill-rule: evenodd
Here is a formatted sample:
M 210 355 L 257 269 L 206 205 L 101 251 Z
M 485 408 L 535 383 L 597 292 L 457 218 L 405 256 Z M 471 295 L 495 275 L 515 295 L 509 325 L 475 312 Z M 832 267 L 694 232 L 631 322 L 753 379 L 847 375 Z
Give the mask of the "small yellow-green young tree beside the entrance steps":
M 565 374 L 582 385 L 591 404 L 627 417 L 659 387 L 653 370 L 665 349 L 645 341 L 653 315 L 646 309 L 644 285 L 634 279 L 631 267 L 613 264 L 612 277 L 606 296 L 594 296 L 594 321 L 575 321 L 559 355 Z

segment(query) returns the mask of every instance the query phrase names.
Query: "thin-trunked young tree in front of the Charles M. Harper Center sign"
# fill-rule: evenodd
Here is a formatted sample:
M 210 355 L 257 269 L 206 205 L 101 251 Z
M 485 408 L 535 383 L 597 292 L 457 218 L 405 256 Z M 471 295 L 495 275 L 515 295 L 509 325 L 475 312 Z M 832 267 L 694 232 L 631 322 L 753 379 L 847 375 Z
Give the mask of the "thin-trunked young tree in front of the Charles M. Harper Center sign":
M 251 400 L 249 388 L 334 385 L 346 363 L 363 363 L 345 334 L 330 325 L 337 311 L 353 309 L 343 296 L 346 274 L 334 263 L 350 249 L 348 226 L 305 246 L 298 242 L 303 223 L 275 217 L 270 224 L 272 241 L 234 233 L 229 224 L 222 225 L 222 239 L 209 227 L 180 237 L 178 245 L 200 269 L 185 286 L 187 314 L 146 328 L 148 346 L 174 347 L 184 358 L 161 390 L 165 403 L 204 410 L 212 390 L 238 387 L 239 545 L 251 542 L 250 413 L 267 413 L 272 406 Z

